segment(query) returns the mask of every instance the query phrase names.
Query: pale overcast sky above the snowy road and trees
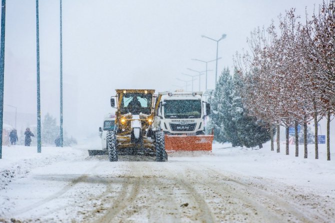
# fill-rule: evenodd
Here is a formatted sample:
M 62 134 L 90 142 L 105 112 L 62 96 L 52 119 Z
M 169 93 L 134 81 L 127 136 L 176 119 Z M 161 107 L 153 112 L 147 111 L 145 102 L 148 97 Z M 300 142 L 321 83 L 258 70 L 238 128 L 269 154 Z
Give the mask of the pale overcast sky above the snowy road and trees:
M 322 0 L 62 0 L 64 128 L 77 138 L 97 133 L 116 88 L 173 90 L 181 73 L 197 74 L 216 57 L 218 75 L 247 48 L 257 26 L 291 7 L 304 17 Z M 35 0 L 6 1 L 4 103 L 36 113 Z M 39 0 L 41 116 L 59 122 L 59 0 Z M 208 63 L 213 88 L 215 62 Z M 201 89 L 205 88 L 204 75 Z M 198 90 L 198 79 L 194 90 Z M 190 89 L 190 86 L 188 87 Z M 12 110 L 4 106 L 4 110 Z M 11 117 L 6 117 L 10 119 Z M 5 122 L 5 121 L 4 121 Z M 28 123 L 17 123 L 25 126 Z M 34 124 L 34 123 L 29 123 Z

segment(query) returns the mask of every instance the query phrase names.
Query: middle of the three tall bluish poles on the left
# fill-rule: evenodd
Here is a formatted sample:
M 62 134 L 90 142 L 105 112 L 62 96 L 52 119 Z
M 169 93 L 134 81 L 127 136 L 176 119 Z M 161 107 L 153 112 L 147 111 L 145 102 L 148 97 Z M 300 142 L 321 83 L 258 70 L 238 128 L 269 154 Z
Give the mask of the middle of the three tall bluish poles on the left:
M 36 0 L 36 71 L 37 71 L 37 152 L 41 152 L 40 142 L 40 87 L 39 87 L 39 20 L 38 0 Z

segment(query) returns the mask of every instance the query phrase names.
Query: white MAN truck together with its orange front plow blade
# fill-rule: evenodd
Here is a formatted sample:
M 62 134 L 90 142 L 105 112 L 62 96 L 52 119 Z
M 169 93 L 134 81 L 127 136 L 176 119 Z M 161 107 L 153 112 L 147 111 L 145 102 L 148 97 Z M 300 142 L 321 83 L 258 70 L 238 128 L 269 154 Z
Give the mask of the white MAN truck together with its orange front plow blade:
M 165 150 L 211 151 L 213 135 L 205 135 L 210 105 L 202 92 L 159 92 L 157 97 L 152 130 L 164 131 Z

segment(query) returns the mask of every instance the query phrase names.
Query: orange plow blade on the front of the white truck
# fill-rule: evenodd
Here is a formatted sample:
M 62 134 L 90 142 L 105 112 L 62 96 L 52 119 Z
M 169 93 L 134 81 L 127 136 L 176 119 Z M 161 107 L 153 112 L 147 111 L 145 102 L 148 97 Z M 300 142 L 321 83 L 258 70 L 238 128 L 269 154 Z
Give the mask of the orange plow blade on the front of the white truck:
M 214 135 L 167 135 L 166 151 L 211 151 Z

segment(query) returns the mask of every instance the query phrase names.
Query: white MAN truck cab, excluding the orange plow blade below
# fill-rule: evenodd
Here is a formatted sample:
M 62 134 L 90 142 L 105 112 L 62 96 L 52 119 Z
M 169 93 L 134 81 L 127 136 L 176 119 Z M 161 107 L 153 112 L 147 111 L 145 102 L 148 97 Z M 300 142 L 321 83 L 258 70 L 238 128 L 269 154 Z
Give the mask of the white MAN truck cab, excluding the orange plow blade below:
M 207 115 L 202 101 L 202 92 L 159 92 L 161 94 L 153 129 L 161 129 L 165 134 L 204 134 L 204 119 Z

